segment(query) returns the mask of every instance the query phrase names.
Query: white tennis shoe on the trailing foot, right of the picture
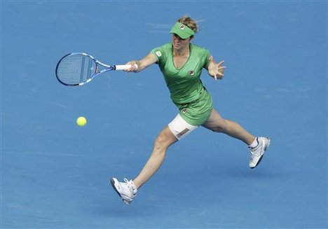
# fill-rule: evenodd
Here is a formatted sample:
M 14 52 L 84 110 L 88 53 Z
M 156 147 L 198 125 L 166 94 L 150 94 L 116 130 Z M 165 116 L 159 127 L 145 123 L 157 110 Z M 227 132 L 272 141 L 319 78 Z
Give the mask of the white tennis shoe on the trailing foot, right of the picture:
M 251 159 L 250 168 L 254 169 L 261 162 L 264 152 L 268 149 L 270 145 L 270 139 L 268 137 L 257 137 L 257 142 L 259 143 L 256 147 L 250 148 Z

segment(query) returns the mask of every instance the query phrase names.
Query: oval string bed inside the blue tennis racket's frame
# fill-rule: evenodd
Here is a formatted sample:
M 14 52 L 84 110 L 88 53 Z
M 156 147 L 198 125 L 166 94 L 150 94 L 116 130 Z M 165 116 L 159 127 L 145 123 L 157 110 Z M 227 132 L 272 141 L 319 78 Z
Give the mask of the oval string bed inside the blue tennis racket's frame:
M 96 72 L 93 59 L 85 55 L 69 55 L 57 65 L 57 78 L 67 85 L 85 83 Z

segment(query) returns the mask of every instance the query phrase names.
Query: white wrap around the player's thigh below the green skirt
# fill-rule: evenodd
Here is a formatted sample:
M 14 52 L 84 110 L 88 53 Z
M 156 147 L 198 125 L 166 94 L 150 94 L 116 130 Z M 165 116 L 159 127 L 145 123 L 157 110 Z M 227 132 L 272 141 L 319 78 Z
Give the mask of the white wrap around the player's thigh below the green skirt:
M 198 128 L 197 126 L 187 123 L 179 113 L 175 119 L 173 119 L 172 122 L 168 124 L 168 127 L 178 140 L 186 137 L 188 134 L 193 132 L 193 130 Z

